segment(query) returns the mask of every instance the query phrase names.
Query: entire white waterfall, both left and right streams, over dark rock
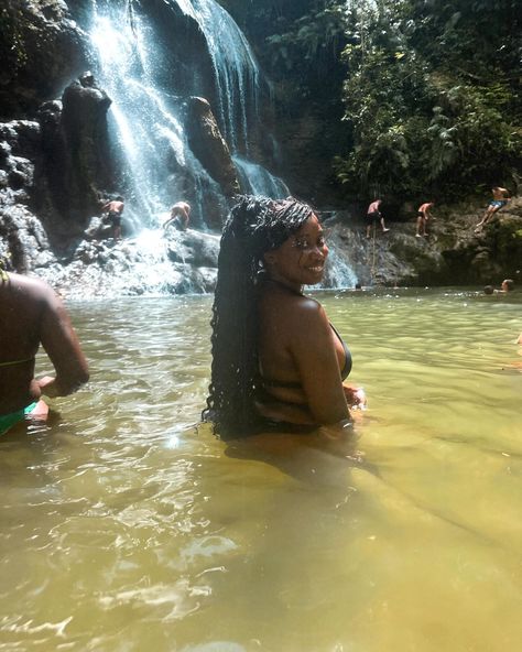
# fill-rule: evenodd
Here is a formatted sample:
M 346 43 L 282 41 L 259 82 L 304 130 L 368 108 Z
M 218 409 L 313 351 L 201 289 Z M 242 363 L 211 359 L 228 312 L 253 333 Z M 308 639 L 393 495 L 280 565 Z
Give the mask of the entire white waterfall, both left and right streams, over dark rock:
M 215 0 L 166 0 L 165 4 L 197 23 L 208 51 L 199 55 L 210 58 L 214 70 L 219 127 L 232 153 L 248 152 L 249 124 L 255 122 L 262 76 L 244 35 Z M 194 155 L 184 128 L 187 87 L 191 95 L 205 95 L 197 86 L 197 75 L 191 85 L 165 88 L 164 45 L 149 17 L 134 13 L 129 20 L 128 7 L 118 2 L 95 3 L 93 13 L 96 76 L 112 99 L 113 149 L 124 155 L 121 185 L 127 188 L 127 220 L 135 231 L 156 226 L 180 199 L 189 199 L 192 220 L 198 228 L 209 221 L 205 219 L 209 204 L 225 215 L 222 189 Z M 238 173 L 243 192 L 287 194 L 283 182 L 262 166 L 241 161 Z

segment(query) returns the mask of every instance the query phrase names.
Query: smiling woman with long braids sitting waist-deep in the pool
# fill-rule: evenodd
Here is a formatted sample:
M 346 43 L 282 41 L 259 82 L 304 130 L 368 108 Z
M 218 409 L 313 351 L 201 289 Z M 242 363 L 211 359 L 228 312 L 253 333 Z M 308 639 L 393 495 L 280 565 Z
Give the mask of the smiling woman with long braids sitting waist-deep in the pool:
M 213 307 L 207 410 L 224 439 L 265 430 L 351 426 L 361 392 L 344 384 L 351 357 L 303 285 L 323 279 L 328 248 L 313 209 L 241 197 L 225 225 Z

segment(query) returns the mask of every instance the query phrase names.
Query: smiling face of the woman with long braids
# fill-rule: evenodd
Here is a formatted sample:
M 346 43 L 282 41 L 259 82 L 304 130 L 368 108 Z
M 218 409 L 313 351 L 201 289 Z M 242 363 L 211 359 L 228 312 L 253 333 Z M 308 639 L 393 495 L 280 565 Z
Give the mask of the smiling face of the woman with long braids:
M 281 247 L 264 256 L 274 280 L 295 287 L 320 283 L 328 248 L 317 217 L 312 215 Z

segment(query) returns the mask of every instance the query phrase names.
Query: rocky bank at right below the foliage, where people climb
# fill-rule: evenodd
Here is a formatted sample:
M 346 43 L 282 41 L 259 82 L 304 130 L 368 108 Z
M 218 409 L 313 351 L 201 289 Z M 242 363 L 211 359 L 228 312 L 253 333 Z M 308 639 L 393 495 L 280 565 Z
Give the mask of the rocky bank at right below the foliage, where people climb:
M 426 238 L 415 237 L 412 216 L 370 239 L 362 221 L 339 213 L 327 222 L 328 239 L 363 285 L 498 285 L 505 278 L 522 283 L 522 199 L 512 199 L 476 233 L 482 213 L 482 206 L 441 208 Z

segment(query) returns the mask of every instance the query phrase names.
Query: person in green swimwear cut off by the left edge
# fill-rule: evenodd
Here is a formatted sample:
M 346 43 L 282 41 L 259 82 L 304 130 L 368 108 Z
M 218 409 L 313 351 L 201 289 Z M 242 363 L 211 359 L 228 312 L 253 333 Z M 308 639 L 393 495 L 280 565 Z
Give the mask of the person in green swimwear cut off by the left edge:
M 34 378 L 35 355 L 44 347 L 56 376 Z M 42 394 L 65 396 L 89 379 L 69 317 L 43 281 L 0 267 L 0 435 L 24 420 L 44 421 Z

